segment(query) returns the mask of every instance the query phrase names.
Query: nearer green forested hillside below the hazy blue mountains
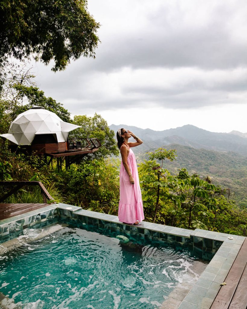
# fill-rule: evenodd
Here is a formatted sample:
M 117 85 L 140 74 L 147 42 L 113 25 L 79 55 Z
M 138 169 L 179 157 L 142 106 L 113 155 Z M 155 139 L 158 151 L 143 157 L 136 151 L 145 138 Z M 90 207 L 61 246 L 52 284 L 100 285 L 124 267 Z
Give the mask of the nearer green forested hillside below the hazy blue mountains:
M 186 168 L 190 173 L 197 173 L 204 178 L 209 176 L 213 184 L 229 188 L 238 205 L 247 207 L 247 158 L 233 152 L 195 149 L 178 144 L 162 147 L 177 150 L 177 159 L 165 162 L 171 173 Z M 141 162 L 147 159 L 147 155 L 139 155 L 138 159 Z

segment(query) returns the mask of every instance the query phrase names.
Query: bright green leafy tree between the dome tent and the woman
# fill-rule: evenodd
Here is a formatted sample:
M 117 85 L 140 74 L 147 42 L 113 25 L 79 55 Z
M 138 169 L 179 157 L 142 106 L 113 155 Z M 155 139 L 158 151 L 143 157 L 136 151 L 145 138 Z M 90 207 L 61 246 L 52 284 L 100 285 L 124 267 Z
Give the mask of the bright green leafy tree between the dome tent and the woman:
M 93 117 L 87 117 L 86 115 L 74 116 L 73 123 L 80 125 L 82 128 L 72 131 L 69 135 L 70 139 L 98 138 L 100 141 L 102 146 L 98 151 L 90 155 L 92 158 L 100 159 L 109 155 L 119 155 L 114 138 L 115 133 L 109 129 L 107 122 L 100 115 L 95 113 Z

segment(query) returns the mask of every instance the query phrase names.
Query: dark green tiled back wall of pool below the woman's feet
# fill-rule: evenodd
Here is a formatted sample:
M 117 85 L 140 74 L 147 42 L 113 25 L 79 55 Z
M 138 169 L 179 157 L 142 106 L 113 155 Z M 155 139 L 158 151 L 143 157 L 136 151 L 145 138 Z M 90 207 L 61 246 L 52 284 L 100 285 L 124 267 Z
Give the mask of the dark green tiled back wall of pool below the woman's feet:
M 88 212 L 88 211 L 86 211 Z M 197 236 L 181 236 L 176 234 L 168 233 L 167 226 L 162 226 L 159 224 L 153 224 L 149 222 L 143 222 L 138 226 L 127 225 L 121 222 L 108 221 L 113 217 L 115 220 L 115 216 L 109 216 L 104 220 L 105 214 L 94 213 L 95 216 L 98 217 L 90 217 L 88 215 L 84 215 L 85 210 L 81 210 L 78 212 L 73 212 L 73 210 L 67 209 L 58 209 L 58 221 L 63 223 L 69 223 L 73 226 L 82 229 L 90 229 L 91 231 L 107 231 L 111 235 L 124 235 L 129 238 L 131 241 L 149 241 L 153 242 L 163 242 L 165 244 L 169 244 L 175 247 L 184 247 L 193 251 L 194 254 L 204 260 L 211 260 L 217 250 L 220 248 L 222 241 L 213 240 L 213 239 L 205 239 Z M 91 215 L 93 212 L 91 212 Z M 145 226 L 145 227 L 144 227 Z M 159 229 L 157 229 L 157 226 Z M 156 228 L 152 230 L 151 228 Z M 170 226 L 169 226 L 170 227 Z M 178 228 L 177 228 L 178 229 Z M 166 231 L 167 230 L 167 231 Z M 173 232 L 176 232 L 176 228 L 173 228 Z M 187 229 L 178 229 L 179 232 L 191 233 L 191 230 Z

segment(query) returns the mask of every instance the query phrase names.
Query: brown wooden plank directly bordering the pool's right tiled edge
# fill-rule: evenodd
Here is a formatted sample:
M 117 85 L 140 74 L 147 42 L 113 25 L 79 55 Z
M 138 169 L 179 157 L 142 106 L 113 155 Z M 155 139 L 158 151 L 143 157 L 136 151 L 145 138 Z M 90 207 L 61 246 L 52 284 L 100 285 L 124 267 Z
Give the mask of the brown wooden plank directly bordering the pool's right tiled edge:
M 225 279 L 226 285 L 221 286 L 210 309 L 227 309 L 232 301 L 233 295 L 237 290 L 240 278 L 245 270 L 247 256 L 247 239 L 242 247 Z M 246 304 L 245 304 L 246 305 Z

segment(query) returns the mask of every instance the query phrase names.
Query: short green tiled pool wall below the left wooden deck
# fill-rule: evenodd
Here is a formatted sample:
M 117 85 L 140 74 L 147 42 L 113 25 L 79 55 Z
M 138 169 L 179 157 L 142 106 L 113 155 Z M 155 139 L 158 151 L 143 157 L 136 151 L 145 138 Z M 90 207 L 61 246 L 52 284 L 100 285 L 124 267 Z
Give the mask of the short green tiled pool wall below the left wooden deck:
M 38 213 L 37 213 L 38 211 Z M 47 206 L 42 211 L 34 210 L 26 214 L 0 221 L 0 243 L 18 237 L 26 228 L 41 228 L 57 222 L 57 208 Z

